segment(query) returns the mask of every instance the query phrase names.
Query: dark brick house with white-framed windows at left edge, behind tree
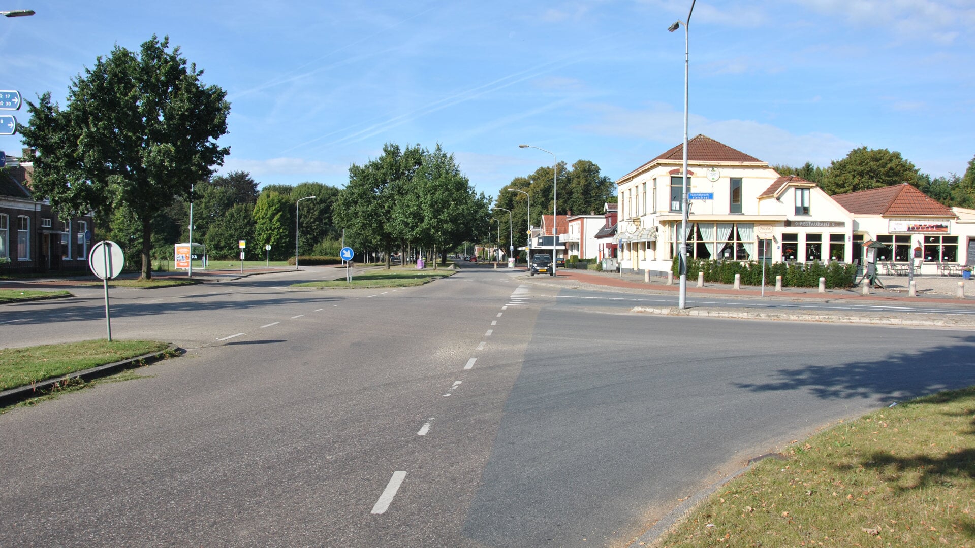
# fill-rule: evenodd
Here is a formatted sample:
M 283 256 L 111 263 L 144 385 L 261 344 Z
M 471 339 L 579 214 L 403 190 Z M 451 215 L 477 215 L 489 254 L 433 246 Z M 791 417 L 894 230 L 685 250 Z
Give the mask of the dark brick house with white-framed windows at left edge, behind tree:
M 29 162 L 0 169 L 0 271 L 87 273 L 91 215 L 60 221 L 31 192 L 32 172 Z

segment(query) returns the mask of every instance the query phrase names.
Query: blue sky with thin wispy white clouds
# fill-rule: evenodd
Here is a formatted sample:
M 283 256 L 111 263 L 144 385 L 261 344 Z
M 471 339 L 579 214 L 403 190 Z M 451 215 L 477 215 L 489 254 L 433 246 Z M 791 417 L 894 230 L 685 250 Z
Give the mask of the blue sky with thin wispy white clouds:
M 551 157 L 616 179 L 683 139 L 690 0 L 0 0 L 0 89 L 51 91 L 118 44 L 169 35 L 228 92 L 230 156 L 262 184 L 342 186 L 386 142 L 441 143 L 496 195 Z M 769 164 L 866 145 L 933 176 L 975 156 L 971 0 L 700 0 L 690 124 Z M 14 113 L 23 122 L 26 113 Z M 0 150 L 19 155 L 18 137 Z

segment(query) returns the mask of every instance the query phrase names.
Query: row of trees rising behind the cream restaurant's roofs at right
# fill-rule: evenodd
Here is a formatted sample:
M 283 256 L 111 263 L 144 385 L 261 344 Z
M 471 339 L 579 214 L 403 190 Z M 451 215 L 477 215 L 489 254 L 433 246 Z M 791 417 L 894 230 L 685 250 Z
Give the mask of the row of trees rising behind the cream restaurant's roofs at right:
M 858 147 L 828 167 L 806 162 L 801 167 L 773 165 L 782 175 L 799 175 L 819 185 L 827 194 L 845 194 L 909 183 L 949 207 L 975 207 L 975 158 L 963 175 L 931 177 L 901 156 L 887 149 Z

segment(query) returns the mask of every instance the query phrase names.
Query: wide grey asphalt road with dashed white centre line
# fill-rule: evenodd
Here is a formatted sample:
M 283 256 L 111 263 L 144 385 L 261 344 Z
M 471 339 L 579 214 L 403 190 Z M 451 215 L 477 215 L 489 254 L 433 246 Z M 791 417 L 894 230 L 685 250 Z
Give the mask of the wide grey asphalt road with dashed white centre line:
M 117 291 L 113 335 L 187 354 L 0 416 L 0 545 L 622 546 L 749 457 L 975 384 L 966 332 L 635 314 L 503 270 L 288 288 L 328 275 Z M 100 337 L 99 299 L 5 306 L 0 347 Z

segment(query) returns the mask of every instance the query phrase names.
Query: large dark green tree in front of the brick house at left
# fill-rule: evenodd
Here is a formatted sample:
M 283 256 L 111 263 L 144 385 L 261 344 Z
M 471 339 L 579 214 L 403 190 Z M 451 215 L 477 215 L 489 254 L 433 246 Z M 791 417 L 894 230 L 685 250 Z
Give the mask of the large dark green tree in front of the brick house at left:
M 125 206 L 140 224 L 142 277 L 151 277 L 152 220 L 160 205 L 189 198 L 229 149 L 230 104 L 200 81 L 169 38 L 153 36 L 139 52 L 116 46 L 71 83 L 64 109 L 51 93 L 28 102 L 24 143 L 38 153 L 34 188 L 63 218 Z

